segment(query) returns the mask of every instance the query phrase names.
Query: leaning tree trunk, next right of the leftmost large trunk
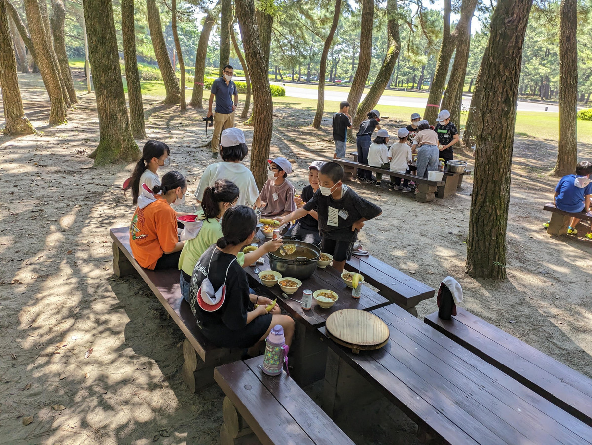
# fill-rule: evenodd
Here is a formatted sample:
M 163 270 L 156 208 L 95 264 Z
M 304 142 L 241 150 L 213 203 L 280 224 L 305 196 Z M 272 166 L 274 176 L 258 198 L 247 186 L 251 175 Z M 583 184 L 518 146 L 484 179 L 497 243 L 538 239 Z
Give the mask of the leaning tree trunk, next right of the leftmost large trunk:
M 53 48 L 47 41 L 47 33 L 37 0 L 25 0 L 25 14 L 27 14 L 27 23 L 31 31 L 31 40 L 34 42 L 37 64 L 52 103 L 49 111 L 49 123 L 62 124 L 66 121 L 66 103 L 58 75 L 59 68 L 52 57 Z

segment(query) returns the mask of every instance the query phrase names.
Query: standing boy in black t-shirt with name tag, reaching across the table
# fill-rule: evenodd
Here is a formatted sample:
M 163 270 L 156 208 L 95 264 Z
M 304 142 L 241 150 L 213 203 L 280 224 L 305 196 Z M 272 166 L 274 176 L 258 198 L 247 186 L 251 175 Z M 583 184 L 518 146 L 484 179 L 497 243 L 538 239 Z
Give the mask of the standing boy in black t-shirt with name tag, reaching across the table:
M 382 215 L 382 209 L 358 196 L 342 183 L 343 168 L 327 162 L 318 172 L 318 190 L 302 209 L 282 218 L 281 224 L 299 219 L 311 210 L 318 215 L 321 232 L 321 252 L 333 255 L 333 267 L 343 271 L 345 262 L 352 256 L 353 244 L 364 222 Z

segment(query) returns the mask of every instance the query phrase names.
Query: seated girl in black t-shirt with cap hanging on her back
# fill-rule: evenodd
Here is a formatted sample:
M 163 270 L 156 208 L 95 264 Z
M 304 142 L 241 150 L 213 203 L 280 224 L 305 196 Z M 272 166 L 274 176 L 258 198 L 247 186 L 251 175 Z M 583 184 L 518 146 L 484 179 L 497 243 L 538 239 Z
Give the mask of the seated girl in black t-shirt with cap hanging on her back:
M 256 225 L 253 209 L 236 206 L 227 210 L 221 222 L 222 236 L 195 264 L 189 290 L 191 310 L 205 337 L 218 347 L 250 348 L 249 353 L 255 352 L 275 325 L 284 327 L 287 345 L 294 335 L 294 320 L 281 315 L 278 306 L 268 313 L 265 306 L 271 300 L 250 293 L 241 267 L 257 252 L 242 253 L 255 236 Z M 271 243 L 275 243 L 273 249 L 282 244 L 275 239 L 258 251 Z

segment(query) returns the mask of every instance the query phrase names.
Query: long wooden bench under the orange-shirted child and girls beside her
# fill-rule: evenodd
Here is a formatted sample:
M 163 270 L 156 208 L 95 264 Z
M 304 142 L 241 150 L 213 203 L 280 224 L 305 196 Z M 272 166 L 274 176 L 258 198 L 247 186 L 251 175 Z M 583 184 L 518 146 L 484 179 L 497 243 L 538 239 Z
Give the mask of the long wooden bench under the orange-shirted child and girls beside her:
M 130 230 L 120 227 L 109 233 L 113 239 L 114 274 L 139 274 L 185 335 L 181 374 L 189 390 L 195 392 L 214 383 L 214 367 L 238 360 L 242 350 L 219 348 L 202 335 L 189 303 L 181 296 L 178 270 L 144 269 L 131 254 Z

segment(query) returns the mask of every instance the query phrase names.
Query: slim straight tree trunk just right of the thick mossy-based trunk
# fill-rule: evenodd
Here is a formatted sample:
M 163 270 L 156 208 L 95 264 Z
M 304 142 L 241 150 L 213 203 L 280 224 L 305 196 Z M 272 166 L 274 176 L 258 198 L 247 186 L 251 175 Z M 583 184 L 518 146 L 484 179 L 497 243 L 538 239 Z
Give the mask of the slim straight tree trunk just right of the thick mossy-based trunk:
M 140 74 L 136 60 L 134 0 L 121 0 L 121 30 L 123 32 L 123 58 L 126 61 L 127 97 L 130 101 L 131 134 L 136 139 L 146 139 Z

